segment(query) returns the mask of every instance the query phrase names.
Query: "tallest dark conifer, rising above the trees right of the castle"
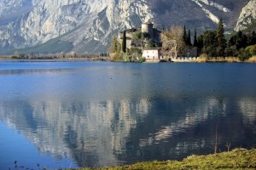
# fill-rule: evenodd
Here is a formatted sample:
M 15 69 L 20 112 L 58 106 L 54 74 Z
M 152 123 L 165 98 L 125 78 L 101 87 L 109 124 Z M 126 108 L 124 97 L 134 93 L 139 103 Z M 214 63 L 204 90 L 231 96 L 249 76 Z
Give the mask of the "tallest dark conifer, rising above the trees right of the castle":
M 227 44 L 226 44 L 226 39 L 224 37 L 224 23 L 222 19 L 220 19 L 218 22 L 218 30 L 216 32 L 216 37 L 218 41 L 218 46 L 217 46 L 218 57 L 224 56 L 224 51 L 225 51 L 225 48 L 227 47 Z

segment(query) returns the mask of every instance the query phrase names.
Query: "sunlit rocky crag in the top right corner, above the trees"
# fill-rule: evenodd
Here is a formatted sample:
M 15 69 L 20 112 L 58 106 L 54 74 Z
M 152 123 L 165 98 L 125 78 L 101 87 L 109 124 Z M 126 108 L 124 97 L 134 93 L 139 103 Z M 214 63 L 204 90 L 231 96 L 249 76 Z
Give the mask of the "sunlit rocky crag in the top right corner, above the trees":
M 251 0 L 242 8 L 235 31 L 246 30 L 249 26 L 256 26 L 256 0 Z

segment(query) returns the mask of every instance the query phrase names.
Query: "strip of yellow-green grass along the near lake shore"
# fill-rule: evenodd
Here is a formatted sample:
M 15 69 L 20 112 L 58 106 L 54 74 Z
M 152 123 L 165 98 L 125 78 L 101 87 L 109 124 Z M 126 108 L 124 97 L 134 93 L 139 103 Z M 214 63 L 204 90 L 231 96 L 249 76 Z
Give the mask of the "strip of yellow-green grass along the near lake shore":
M 93 168 L 82 168 L 80 170 L 90 169 Z M 189 156 L 183 159 L 183 161 L 148 161 L 123 167 L 95 169 L 256 169 L 256 149 L 236 149 L 208 156 Z

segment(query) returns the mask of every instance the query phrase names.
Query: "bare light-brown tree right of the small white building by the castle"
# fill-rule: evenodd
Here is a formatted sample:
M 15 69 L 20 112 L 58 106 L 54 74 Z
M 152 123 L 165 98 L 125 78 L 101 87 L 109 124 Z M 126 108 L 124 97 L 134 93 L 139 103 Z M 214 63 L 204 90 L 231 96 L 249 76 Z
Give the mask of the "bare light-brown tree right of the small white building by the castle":
M 183 41 L 183 28 L 172 27 L 160 34 L 162 53 L 166 56 L 182 56 L 186 52 L 186 44 Z

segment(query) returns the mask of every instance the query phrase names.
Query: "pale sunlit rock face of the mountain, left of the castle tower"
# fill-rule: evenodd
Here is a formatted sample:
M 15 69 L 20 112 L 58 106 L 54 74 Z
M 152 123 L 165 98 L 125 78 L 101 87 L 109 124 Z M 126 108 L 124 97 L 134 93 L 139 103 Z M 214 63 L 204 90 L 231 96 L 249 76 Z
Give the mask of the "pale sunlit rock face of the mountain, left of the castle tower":
M 84 46 L 105 47 L 113 32 L 151 18 L 144 0 L 44 0 L 29 14 L 10 23 L 0 37 L 5 46 L 24 48 L 64 35 L 61 41 L 73 42 L 73 50 L 83 53 Z

